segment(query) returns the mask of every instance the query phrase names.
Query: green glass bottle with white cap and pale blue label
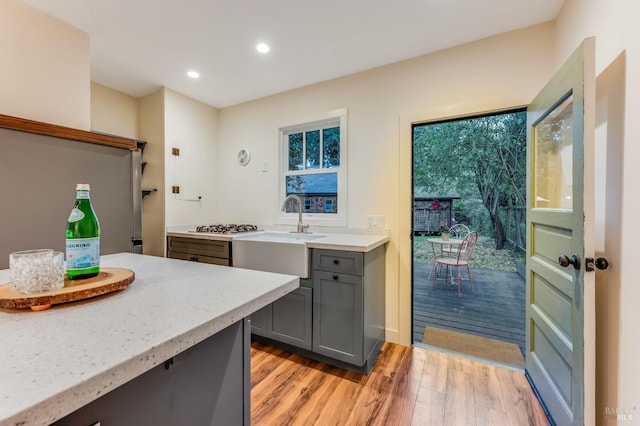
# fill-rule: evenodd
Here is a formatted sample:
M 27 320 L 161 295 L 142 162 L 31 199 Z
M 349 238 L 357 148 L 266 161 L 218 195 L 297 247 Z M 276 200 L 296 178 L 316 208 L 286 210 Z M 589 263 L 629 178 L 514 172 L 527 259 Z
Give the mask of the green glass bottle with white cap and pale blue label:
M 100 224 L 87 183 L 76 186 L 76 204 L 67 220 L 67 278 L 91 278 L 100 272 Z

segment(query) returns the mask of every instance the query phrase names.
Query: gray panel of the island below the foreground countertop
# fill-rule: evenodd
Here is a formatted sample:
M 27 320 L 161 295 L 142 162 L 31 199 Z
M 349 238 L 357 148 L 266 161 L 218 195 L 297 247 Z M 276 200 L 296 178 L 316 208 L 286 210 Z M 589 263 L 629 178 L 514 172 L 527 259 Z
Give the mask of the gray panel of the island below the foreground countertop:
M 239 321 L 54 425 L 249 425 L 250 340 Z

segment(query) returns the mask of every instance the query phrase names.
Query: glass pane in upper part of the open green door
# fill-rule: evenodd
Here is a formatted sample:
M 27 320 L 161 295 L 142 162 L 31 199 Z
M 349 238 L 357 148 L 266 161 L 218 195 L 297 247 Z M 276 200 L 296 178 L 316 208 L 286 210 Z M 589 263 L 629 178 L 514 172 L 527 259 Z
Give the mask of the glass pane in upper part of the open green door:
M 568 96 L 533 128 L 534 207 L 573 207 L 573 96 Z

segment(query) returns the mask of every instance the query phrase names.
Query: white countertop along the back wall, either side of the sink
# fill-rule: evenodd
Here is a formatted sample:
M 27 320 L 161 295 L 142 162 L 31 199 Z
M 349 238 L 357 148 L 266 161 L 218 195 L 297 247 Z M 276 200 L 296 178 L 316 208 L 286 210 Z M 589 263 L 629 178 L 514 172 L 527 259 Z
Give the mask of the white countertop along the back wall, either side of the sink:
M 207 232 L 192 232 L 193 229 L 195 229 L 195 226 L 170 228 L 167 230 L 167 235 L 206 240 L 233 241 L 234 238 L 248 237 L 264 232 L 288 233 L 288 231 L 265 229 L 264 231 L 242 232 L 238 234 L 215 234 Z M 345 230 L 344 232 L 339 233 L 314 230 L 312 231 L 312 235 L 322 235 L 322 238 L 305 241 L 304 244 L 306 244 L 308 248 L 366 253 L 389 242 L 389 236 L 387 233 L 365 233 L 356 232 L 355 230 L 352 230 L 351 232 L 350 230 Z

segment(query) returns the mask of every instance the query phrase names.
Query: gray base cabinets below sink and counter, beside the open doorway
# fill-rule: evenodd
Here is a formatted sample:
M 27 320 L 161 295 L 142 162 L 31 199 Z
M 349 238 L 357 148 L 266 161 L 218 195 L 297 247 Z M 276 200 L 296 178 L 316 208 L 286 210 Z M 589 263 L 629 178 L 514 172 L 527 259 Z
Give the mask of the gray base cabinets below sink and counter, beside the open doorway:
M 304 349 L 304 356 L 368 373 L 385 339 L 384 250 L 312 249 L 309 280 L 252 315 L 251 332 L 287 350 Z

